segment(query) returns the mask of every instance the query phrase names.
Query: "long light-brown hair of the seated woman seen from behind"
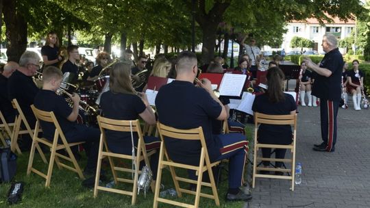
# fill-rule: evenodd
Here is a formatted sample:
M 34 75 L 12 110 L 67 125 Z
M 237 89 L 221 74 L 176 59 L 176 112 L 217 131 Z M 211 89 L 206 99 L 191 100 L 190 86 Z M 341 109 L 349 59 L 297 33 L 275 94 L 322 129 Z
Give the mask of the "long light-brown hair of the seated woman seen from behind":
M 131 83 L 131 62 L 125 60 L 113 65 L 110 70 L 109 87 L 113 93 L 135 94 Z

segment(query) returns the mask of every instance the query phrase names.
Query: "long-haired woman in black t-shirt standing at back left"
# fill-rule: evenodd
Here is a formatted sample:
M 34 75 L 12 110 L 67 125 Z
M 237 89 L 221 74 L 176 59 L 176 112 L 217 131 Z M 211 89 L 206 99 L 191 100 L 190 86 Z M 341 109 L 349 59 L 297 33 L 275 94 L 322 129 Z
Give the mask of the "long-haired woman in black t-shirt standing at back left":
M 56 32 L 49 32 L 45 38 L 45 45 L 41 48 L 42 61 L 45 66 L 56 66 L 63 59 L 59 53 L 59 39 Z

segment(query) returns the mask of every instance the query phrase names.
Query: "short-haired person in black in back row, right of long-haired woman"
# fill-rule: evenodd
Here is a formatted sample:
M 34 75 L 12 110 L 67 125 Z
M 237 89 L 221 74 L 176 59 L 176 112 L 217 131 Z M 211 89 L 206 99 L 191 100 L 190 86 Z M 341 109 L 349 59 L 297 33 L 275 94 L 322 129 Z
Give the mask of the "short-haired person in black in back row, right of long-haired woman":
M 78 67 L 76 61 L 79 59 L 78 47 L 76 45 L 70 45 L 67 47 L 68 60 L 62 66 L 62 73 L 71 73 L 69 82 L 75 83 L 78 79 Z

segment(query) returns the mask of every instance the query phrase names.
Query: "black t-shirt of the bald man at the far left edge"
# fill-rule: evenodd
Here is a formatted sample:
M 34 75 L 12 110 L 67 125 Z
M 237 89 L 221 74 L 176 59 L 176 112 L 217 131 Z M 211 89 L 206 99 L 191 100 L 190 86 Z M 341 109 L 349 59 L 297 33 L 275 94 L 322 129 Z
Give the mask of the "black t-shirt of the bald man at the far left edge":
M 16 111 L 8 97 L 8 78 L 0 74 L 0 111 L 6 122 L 14 122 Z M 1 120 L 0 120 L 1 123 Z

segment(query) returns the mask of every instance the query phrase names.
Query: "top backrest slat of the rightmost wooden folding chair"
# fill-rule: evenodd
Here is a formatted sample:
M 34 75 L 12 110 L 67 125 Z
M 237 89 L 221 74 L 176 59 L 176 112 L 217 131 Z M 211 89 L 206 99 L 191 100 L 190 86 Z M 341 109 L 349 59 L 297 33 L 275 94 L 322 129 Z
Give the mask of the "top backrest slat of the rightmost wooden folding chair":
M 267 124 L 267 125 L 293 125 L 294 128 L 296 128 L 297 114 L 267 115 L 256 112 L 256 114 L 254 114 L 254 123 L 256 127 L 258 127 L 259 124 Z

